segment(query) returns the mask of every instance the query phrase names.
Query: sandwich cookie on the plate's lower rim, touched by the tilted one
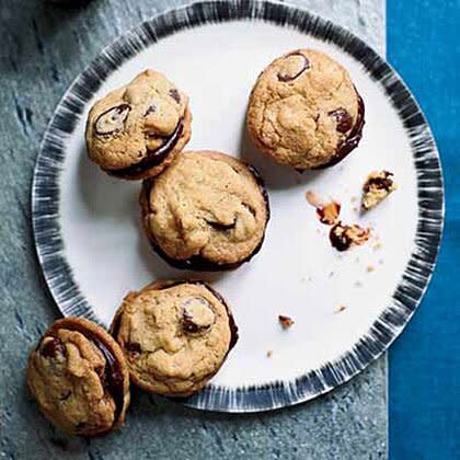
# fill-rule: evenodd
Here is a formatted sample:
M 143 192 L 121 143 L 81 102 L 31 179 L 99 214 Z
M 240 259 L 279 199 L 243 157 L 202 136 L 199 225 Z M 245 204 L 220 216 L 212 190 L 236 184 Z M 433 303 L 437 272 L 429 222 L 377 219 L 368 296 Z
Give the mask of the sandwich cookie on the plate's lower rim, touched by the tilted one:
M 203 281 L 157 281 L 130 292 L 112 333 L 133 381 L 170 396 L 199 391 L 238 338 L 225 300 Z

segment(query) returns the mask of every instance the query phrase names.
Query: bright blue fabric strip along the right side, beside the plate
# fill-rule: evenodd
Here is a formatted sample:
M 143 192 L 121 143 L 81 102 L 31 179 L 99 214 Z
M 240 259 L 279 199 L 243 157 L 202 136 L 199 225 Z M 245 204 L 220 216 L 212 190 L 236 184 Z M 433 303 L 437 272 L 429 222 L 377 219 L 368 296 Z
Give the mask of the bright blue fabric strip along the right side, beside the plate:
M 438 265 L 390 350 L 390 459 L 460 459 L 460 0 L 388 0 L 388 59 L 437 140 L 446 186 Z

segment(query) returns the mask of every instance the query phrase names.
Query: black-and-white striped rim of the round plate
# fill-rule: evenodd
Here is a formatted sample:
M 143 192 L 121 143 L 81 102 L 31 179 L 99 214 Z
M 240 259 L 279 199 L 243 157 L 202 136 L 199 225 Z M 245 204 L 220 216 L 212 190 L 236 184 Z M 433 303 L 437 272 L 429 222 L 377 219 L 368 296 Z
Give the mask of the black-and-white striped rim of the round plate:
M 290 382 L 229 390 L 209 386 L 187 400 L 198 409 L 255 412 L 296 404 L 349 380 L 380 356 L 401 333 L 419 303 L 432 276 L 444 221 L 444 188 L 439 157 L 430 129 L 414 97 L 394 70 L 346 30 L 306 11 L 271 2 L 241 0 L 200 2 L 145 22 L 106 47 L 77 78 L 59 103 L 38 157 L 33 183 L 33 225 L 38 257 L 48 286 L 64 314 L 96 320 L 65 258 L 59 228 L 59 174 L 65 145 L 84 105 L 104 79 L 123 61 L 163 36 L 186 27 L 232 20 L 262 20 L 298 28 L 332 42 L 359 60 L 384 89 L 411 139 L 417 172 L 418 221 L 415 250 L 392 301 L 353 349 Z

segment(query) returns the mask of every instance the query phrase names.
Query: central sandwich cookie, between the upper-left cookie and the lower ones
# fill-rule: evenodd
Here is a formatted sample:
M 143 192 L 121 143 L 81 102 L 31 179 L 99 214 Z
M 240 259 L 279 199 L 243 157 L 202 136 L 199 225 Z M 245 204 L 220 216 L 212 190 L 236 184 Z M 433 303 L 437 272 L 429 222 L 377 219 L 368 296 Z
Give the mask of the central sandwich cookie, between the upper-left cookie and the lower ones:
M 261 248 L 268 197 L 252 166 L 215 151 L 179 156 L 143 184 L 142 220 L 153 248 L 172 265 L 232 268 Z

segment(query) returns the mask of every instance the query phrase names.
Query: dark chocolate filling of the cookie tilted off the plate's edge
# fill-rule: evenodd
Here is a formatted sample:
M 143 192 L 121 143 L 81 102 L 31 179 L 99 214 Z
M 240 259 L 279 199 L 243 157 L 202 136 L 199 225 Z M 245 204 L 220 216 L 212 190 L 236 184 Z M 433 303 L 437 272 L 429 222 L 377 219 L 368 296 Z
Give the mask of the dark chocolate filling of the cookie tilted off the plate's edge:
M 103 354 L 105 358 L 105 367 L 104 367 L 104 373 L 103 376 L 101 376 L 101 380 L 104 388 L 107 389 L 108 393 L 111 394 L 111 396 L 113 398 L 115 402 L 114 423 L 116 423 L 118 421 L 119 415 L 122 414 L 124 403 L 125 403 L 124 378 L 123 378 L 123 372 L 122 372 L 119 363 L 115 359 L 115 356 L 105 346 L 105 344 L 91 331 L 88 331 L 74 324 L 67 324 L 62 329 L 67 329 L 69 331 L 77 331 L 80 334 L 84 335 Z M 54 335 L 46 335 L 46 337 L 49 337 L 49 336 L 57 338 Z

